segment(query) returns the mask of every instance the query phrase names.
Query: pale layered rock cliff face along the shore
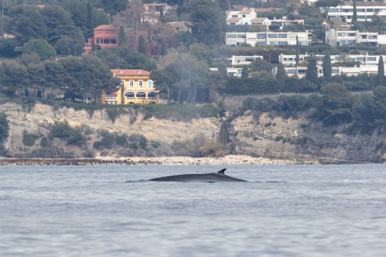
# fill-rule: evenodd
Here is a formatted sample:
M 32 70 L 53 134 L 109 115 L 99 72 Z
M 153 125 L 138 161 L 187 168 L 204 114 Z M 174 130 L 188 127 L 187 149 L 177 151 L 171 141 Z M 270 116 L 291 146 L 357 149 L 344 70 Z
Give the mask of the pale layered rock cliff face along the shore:
M 141 114 L 121 114 L 115 122 L 106 110 L 89 112 L 72 108 L 55 109 L 36 104 L 30 109 L 7 103 L 0 105 L 10 120 L 10 136 L 5 147 L 11 155 L 26 151 L 23 132 L 46 136 L 49 125 L 66 119 L 72 126 L 88 126 L 91 131 L 108 130 L 112 133 L 144 135 L 150 141 L 172 143 L 174 140 L 192 139 L 197 135 L 216 139 L 222 122 L 218 118 L 172 121 L 154 117 L 143 120 Z M 384 162 L 386 139 L 383 130 L 373 135 L 348 136 L 344 126 L 323 127 L 320 122 L 299 119 L 270 118 L 262 114 L 255 118 L 251 113 L 230 122 L 232 153 L 255 157 L 320 162 Z M 97 133 L 90 134 L 90 142 Z M 91 145 L 91 144 L 90 144 Z M 38 147 L 38 141 L 36 146 Z

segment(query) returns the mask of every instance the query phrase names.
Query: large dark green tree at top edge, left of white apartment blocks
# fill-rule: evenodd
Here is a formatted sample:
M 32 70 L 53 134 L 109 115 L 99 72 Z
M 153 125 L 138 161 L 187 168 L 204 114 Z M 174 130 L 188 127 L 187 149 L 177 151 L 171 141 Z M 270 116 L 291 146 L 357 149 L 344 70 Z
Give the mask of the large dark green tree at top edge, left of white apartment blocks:
M 191 33 L 199 42 L 207 45 L 222 43 L 226 20 L 217 2 L 192 0 L 186 9 Z

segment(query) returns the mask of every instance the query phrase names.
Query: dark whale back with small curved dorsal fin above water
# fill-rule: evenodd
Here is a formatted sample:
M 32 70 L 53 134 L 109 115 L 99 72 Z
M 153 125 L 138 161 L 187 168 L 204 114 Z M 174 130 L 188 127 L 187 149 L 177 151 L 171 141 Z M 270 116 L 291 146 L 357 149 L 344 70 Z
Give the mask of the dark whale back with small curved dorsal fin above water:
M 207 174 L 183 174 L 167 177 L 149 179 L 151 181 L 174 181 L 174 182 L 246 182 L 246 180 L 233 178 L 225 175 L 225 170 Z

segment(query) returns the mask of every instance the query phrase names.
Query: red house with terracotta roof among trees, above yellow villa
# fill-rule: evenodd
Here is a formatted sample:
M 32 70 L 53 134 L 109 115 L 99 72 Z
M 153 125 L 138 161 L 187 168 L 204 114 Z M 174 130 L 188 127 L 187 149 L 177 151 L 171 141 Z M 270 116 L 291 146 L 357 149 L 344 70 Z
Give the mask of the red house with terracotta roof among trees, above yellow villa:
M 94 36 L 84 44 L 84 54 L 92 50 L 92 43 L 101 48 L 116 48 L 119 45 L 119 29 L 113 25 L 100 25 L 94 29 Z

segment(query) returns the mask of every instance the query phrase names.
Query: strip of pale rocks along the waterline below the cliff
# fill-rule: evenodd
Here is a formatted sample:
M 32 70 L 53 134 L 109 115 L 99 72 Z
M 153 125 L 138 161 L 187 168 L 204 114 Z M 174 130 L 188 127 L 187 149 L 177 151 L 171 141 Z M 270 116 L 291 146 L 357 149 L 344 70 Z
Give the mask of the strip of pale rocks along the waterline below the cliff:
M 285 165 L 285 164 L 315 164 L 298 162 L 296 160 L 275 160 L 254 158 L 244 155 L 225 157 L 97 157 L 78 159 L 0 159 L 0 165 Z

